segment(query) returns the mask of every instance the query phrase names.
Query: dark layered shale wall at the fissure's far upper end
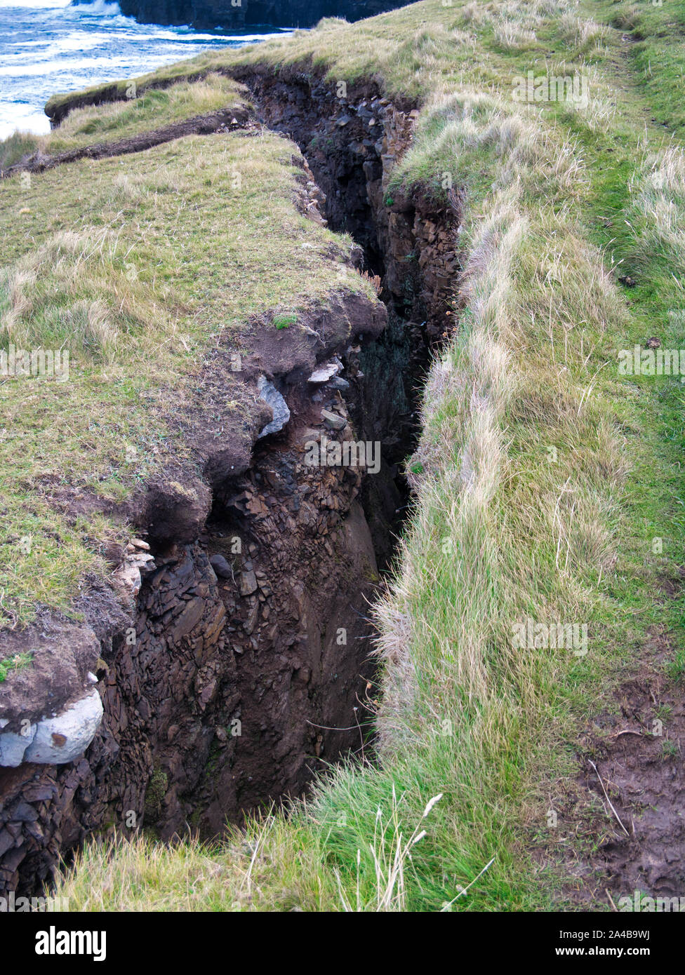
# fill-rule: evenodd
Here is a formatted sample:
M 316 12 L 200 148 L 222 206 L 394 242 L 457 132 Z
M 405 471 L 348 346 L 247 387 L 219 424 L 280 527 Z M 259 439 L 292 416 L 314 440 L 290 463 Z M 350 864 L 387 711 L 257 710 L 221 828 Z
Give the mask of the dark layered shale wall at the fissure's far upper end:
M 446 204 L 442 194 L 440 202 L 420 186 L 410 194 L 391 188 L 419 114 L 414 102 L 383 98 L 371 83 L 340 95 L 335 81 L 297 65 L 231 73 L 252 91 L 269 128 L 298 143 L 320 187 L 323 215 L 360 245 L 367 270 L 382 278 L 386 302 L 421 325 L 429 342 L 439 339 L 460 264 L 457 201 Z M 444 177 L 449 188 L 451 176 Z

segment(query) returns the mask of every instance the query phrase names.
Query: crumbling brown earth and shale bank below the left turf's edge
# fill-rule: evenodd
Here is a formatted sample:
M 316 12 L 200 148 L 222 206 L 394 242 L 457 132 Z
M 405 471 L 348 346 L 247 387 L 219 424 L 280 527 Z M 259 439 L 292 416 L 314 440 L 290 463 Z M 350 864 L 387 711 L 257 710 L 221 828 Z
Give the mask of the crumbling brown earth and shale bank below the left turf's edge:
M 31 717 L 61 713 L 96 679 L 104 714 L 77 761 L 0 769 L 3 888 L 35 889 L 92 832 L 144 823 L 165 839 L 188 827 L 214 836 L 226 818 L 301 794 L 324 762 L 360 747 L 378 569 L 359 502 L 363 471 L 304 461 L 322 435 L 354 436 L 337 384 L 307 376 L 317 351 L 345 357 L 353 336 L 373 340 L 385 312 L 360 295 L 342 301 L 338 323 L 334 311 L 322 313 L 333 347 L 309 329 L 308 346 L 294 351 L 293 339 L 276 352 L 255 331 L 241 381 L 252 388 L 268 363 L 290 421 L 257 442 L 249 463 L 219 441 L 202 457 L 204 480 L 176 468 L 158 477 L 139 512 L 148 542 L 134 540 L 113 575 L 119 601 L 84 604 L 97 617 L 90 627 L 49 623 L 53 643 L 71 629 L 90 637 L 62 652 L 61 683 L 49 668 L 7 682 L 8 734 L 20 733 L 28 702 Z M 261 403 L 256 415 L 259 430 L 273 411 Z M 197 415 L 193 431 L 206 446 Z M 40 627 L 21 639 L 41 641 Z

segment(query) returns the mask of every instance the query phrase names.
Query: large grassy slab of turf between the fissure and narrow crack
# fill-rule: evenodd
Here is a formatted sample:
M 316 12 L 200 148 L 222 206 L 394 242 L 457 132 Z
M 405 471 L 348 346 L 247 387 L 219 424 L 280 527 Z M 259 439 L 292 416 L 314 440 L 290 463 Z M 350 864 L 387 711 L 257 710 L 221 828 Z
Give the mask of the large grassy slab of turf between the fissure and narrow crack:
M 105 571 L 102 543 L 124 529 L 74 522 L 64 499 L 122 501 L 178 455 L 169 421 L 213 342 L 368 288 L 322 259 L 341 239 L 296 212 L 294 152 L 268 134 L 187 137 L 0 183 L 0 348 L 70 352 L 68 381 L 0 381 L 3 625 L 67 609 L 83 573 Z

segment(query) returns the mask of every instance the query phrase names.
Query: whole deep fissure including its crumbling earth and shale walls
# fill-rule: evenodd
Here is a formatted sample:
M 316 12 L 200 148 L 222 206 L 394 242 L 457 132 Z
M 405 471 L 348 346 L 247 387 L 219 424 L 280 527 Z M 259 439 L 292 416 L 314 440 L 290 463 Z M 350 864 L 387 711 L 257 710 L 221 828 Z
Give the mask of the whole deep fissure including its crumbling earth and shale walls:
M 97 679 L 100 728 L 76 761 L 0 768 L 0 889 L 34 890 L 92 833 L 214 836 L 364 746 L 368 606 L 401 525 L 423 368 L 447 327 L 456 215 L 388 193 L 414 106 L 373 86 L 336 98 L 297 73 L 237 76 L 307 153 L 296 206 L 353 236 L 349 259 L 378 276 L 384 303 L 342 294 L 285 331 L 266 316 L 246 327 L 239 373 L 228 348 L 203 368 L 181 419 L 196 463 L 170 466 L 127 512 L 147 540 L 115 555 L 110 589 L 93 584 L 86 647 L 62 654 L 68 680 L 50 685 L 60 711 Z M 245 409 L 226 415 L 226 401 Z M 359 443 L 380 447 L 373 474 L 307 463 L 312 445 Z M 67 622 L 48 622 L 59 643 Z M 42 641 L 40 626 L 25 639 Z M 6 731 L 30 673 L 12 707 L 0 700 Z

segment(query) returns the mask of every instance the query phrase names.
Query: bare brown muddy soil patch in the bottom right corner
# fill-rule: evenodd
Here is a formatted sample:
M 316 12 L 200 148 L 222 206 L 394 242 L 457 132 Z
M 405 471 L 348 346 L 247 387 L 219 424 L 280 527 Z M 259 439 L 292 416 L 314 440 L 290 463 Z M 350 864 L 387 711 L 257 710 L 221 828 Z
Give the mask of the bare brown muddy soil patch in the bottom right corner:
M 615 692 L 616 707 L 581 738 L 562 813 L 589 850 L 566 864 L 579 880 L 565 891 L 577 910 L 615 910 L 635 891 L 685 896 L 685 701 L 665 676 L 667 636 L 654 634 L 647 650 L 649 661 Z

